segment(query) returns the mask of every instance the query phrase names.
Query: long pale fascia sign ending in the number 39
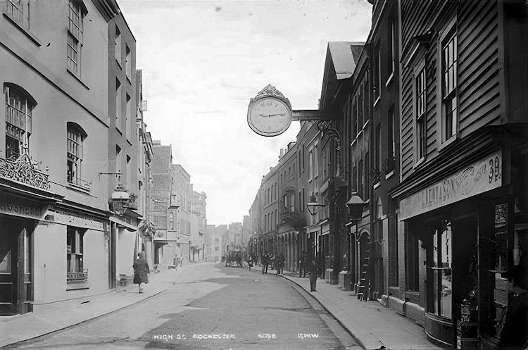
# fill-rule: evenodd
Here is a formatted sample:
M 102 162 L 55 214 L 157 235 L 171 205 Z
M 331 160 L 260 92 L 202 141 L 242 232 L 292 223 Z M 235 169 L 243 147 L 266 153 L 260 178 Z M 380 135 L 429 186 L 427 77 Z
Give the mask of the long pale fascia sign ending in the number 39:
M 502 154 L 496 151 L 400 201 L 400 220 L 502 186 Z

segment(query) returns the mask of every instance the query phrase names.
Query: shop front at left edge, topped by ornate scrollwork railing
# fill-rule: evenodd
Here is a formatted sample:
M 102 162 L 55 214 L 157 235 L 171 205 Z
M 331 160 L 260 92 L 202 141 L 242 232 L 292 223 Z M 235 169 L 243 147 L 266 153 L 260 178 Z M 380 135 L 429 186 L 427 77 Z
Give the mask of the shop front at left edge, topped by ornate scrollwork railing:
M 0 315 L 32 311 L 34 231 L 61 198 L 27 154 L 0 158 Z

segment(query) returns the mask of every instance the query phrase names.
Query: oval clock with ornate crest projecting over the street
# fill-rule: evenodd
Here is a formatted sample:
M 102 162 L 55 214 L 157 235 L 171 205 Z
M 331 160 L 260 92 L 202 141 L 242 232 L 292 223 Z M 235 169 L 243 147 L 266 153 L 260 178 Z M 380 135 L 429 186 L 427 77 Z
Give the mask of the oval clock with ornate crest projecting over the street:
M 291 118 L 289 100 L 272 85 L 262 89 L 249 102 L 248 124 L 258 135 L 282 134 L 291 124 Z

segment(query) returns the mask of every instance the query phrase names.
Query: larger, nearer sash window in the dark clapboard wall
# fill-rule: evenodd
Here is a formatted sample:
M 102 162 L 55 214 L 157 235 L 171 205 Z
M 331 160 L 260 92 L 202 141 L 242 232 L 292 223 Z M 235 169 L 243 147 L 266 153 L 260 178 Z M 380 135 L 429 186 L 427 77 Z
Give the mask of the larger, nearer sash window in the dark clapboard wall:
M 457 37 L 456 32 L 448 35 L 442 44 L 442 141 L 450 139 L 458 132 L 457 111 Z

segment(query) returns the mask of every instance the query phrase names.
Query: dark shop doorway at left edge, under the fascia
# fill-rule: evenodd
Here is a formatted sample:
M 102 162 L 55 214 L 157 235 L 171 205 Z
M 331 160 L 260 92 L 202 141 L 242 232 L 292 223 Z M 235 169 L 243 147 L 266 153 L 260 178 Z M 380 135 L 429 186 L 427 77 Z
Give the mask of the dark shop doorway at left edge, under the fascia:
M 32 311 L 31 232 L 25 220 L 0 219 L 0 315 Z

